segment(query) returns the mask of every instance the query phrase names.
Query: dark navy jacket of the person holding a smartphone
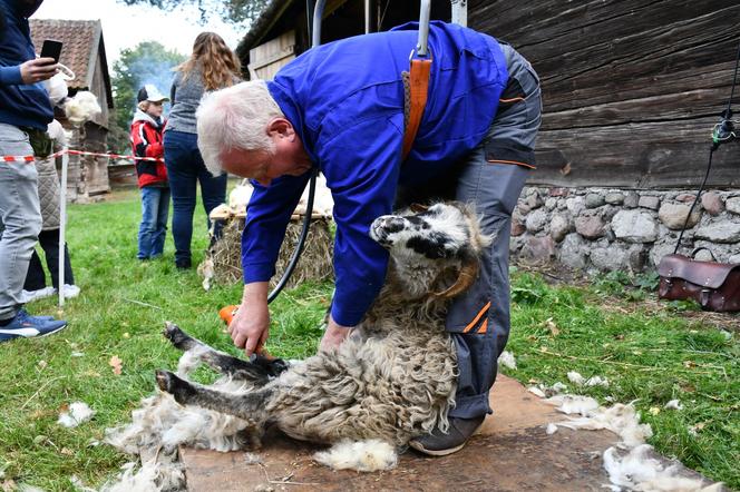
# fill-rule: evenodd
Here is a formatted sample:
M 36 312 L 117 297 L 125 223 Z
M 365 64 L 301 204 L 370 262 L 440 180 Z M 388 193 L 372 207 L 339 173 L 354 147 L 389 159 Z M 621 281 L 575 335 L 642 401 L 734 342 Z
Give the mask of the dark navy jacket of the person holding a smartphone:
M 18 2 L 0 0 L 0 122 L 41 130 L 53 119 L 49 94 L 42 82 L 25 85 L 20 65 L 36 58 L 28 19 Z

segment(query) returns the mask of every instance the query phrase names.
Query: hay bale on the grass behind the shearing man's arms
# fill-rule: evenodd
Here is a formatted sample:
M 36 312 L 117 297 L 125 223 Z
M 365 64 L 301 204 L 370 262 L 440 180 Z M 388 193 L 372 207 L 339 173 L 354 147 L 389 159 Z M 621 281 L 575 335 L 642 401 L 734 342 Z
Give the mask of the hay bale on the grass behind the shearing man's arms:
M 298 238 L 303 227 L 303 217 L 294 216 L 285 230 L 285 239 L 280 248 L 276 274 L 270 281 L 274 287 L 285 272 L 291 256 L 295 250 Z M 203 287 L 207 291 L 210 284 L 232 285 L 242 282 L 242 230 L 244 218 L 238 216 L 226 219 L 221 238 L 206 252 L 206 258 L 198 267 L 205 277 Z M 322 282 L 333 278 L 334 238 L 331 234 L 331 219 L 319 216 L 311 220 L 311 228 L 305 239 L 305 247 L 301 259 L 295 266 L 286 288 L 292 288 L 306 281 Z

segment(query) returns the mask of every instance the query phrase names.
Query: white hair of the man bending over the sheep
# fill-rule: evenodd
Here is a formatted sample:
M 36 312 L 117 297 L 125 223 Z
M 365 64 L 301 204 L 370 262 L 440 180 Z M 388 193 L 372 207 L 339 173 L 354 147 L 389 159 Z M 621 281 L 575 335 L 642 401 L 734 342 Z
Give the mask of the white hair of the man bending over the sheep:
M 274 151 L 267 125 L 284 118 L 263 80 L 207 92 L 195 114 L 198 148 L 208 171 L 223 173 L 221 155 L 231 149 Z

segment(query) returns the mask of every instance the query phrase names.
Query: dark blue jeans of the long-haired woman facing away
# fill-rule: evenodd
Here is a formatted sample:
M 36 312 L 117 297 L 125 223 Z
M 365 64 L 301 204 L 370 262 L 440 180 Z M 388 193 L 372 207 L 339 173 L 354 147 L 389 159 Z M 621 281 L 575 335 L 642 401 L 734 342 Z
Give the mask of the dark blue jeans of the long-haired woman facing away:
M 195 213 L 196 183 L 201 184 L 203 208 L 208 227 L 208 214 L 226 199 L 226 175 L 213 177 L 205 168 L 197 146 L 197 135 L 184 131 L 165 131 L 165 163 L 172 189 L 172 234 L 175 238 L 175 263 L 191 266 L 193 214 Z M 218 223 L 216 223 L 218 225 Z M 220 230 L 214 230 L 217 237 Z

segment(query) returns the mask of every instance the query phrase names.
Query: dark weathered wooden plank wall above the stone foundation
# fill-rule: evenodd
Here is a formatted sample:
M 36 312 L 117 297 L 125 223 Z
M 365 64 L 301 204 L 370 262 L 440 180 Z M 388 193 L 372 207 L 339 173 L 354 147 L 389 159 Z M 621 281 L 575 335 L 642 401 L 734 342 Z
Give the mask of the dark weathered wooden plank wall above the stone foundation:
M 473 0 L 468 22 L 510 42 L 539 73 L 529 184 L 699 185 L 730 96 L 740 2 Z M 740 187 L 740 142 L 714 154 L 709 185 Z

